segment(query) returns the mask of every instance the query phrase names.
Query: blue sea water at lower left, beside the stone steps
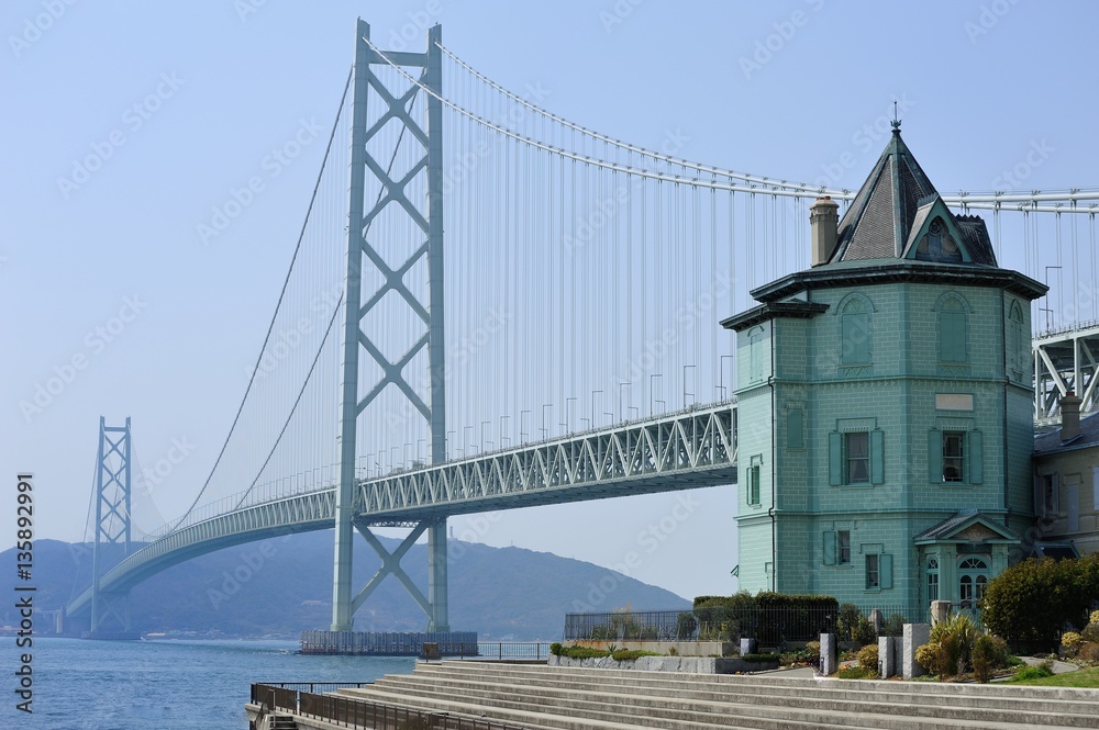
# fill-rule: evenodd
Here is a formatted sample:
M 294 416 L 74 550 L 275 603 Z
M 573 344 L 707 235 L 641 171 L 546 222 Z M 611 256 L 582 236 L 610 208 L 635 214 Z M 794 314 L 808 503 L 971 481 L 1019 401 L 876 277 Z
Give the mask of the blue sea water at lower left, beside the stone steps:
M 370 682 L 408 674 L 408 656 L 317 656 L 297 641 L 87 641 L 36 638 L 33 714 L 16 709 L 20 654 L 0 639 L 0 728 L 247 730 L 253 682 Z

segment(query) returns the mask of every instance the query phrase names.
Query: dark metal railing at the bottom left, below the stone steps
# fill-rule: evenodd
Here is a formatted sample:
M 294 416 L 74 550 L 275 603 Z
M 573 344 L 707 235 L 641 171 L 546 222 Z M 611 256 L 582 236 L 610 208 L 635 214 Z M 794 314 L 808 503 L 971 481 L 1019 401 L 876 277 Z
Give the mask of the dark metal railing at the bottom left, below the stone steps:
M 310 684 L 321 686 L 326 683 L 292 683 L 295 686 Z M 362 686 L 362 685 L 338 685 Z M 313 717 L 348 728 L 374 728 L 375 730 L 522 730 L 520 726 L 463 718 L 442 712 L 423 712 L 406 707 L 395 707 L 370 703 L 352 697 L 318 695 L 289 686 L 252 685 L 253 704 L 266 710 L 280 710 L 300 716 Z

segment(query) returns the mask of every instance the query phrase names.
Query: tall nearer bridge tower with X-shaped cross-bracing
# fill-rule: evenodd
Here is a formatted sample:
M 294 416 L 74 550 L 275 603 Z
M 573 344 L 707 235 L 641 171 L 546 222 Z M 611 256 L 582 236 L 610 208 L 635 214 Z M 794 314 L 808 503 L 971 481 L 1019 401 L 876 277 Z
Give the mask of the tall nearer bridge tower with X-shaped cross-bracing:
M 439 25 L 428 31 L 428 47 L 424 53 L 378 52 L 370 44 L 370 26 L 359 19 L 355 34 L 354 96 L 352 101 L 352 161 L 349 182 L 349 205 L 347 211 L 347 279 L 345 288 L 345 317 L 343 339 L 343 366 L 341 378 L 340 411 L 340 485 L 336 492 L 336 536 L 332 589 L 332 630 L 351 630 L 352 617 L 363 602 L 373 593 L 387 575 L 395 575 L 409 591 L 429 617 L 430 631 L 449 630 L 446 596 L 446 518 L 432 518 L 415 525 L 412 534 L 392 554 L 370 532 L 370 525 L 356 519 L 355 508 L 355 447 L 359 414 L 388 386 L 398 388 L 410 405 L 418 411 L 430 426 L 430 448 L 433 463 L 446 458 L 446 414 L 444 391 L 444 340 L 443 340 L 443 137 L 442 137 L 442 29 Z M 382 57 L 385 56 L 385 58 Z M 421 69 L 419 85 L 412 85 L 404 93 L 390 92 L 373 66 L 388 66 L 388 61 L 411 69 Z M 367 97 L 370 89 L 387 105 L 385 113 L 371 125 L 367 124 Z M 426 99 L 426 128 L 409 113 L 409 106 L 417 93 Z M 396 120 L 403 125 L 408 136 L 423 148 L 422 158 L 411 169 L 423 168 L 426 173 L 426 211 L 424 204 L 408 195 L 404 188 L 414 178 L 408 175 L 393 180 L 387 172 L 388 160 L 376 159 L 367 148 L 367 143 Z M 380 184 L 381 194 L 377 200 L 366 200 L 366 176 L 373 175 Z M 410 221 L 422 231 L 424 245 L 412 252 L 400 266 L 390 266 L 371 244 L 369 229 L 371 222 L 392 204 L 403 211 Z M 428 301 L 417 299 L 404 284 L 406 272 L 421 257 L 428 261 Z M 375 267 L 385 280 L 377 292 L 363 292 L 364 267 Z M 389 361 L 381 349 L 363 328 L 363 319 L 376 307 L 389 291 L 399 294 L 426 326 L 426 335 L 413 344 L 409 351 L 396 361 Z M 365 294 L 365 296 L 364 296 Z M 422 349 L 428 348 L 429 397 L 428 403 L 415 392 L 406 378 L 404 367 Z M 365 351 L 381 367 L 382 375 L 377 383 L 359 382 L 359 355 Z M 364 388 L 364 385 L 366 388 Z M 382 565 L 367 585 L 352 598 L 352 543 L 353 528 L 358 530 L 381 557 Z M 424 597 L 419 588 L 400 568 L 400 558 L 413 542 L 428 531 L 429 539 L 429 587 Z

